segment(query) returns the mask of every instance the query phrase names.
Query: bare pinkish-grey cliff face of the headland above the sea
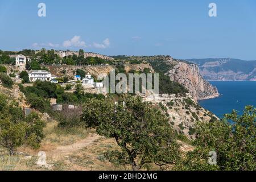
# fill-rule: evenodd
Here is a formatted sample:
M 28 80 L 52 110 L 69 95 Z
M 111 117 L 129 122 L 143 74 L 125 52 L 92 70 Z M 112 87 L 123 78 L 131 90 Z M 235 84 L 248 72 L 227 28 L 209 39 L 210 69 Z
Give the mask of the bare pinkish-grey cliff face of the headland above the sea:
M 199 73 L 196 64 L 188 64 L 181 61 L 170 60 L 174 67 L 166 73 L 172 81 L 179 82 L 189 90 L 194 100 L 205 100 L 218 97 L 218 90 L 211 85 Z

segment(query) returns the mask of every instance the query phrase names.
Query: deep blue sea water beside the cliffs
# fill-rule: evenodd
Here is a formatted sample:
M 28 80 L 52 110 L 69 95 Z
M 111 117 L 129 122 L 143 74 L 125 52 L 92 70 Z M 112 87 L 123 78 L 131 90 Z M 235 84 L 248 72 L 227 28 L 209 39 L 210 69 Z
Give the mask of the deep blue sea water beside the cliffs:
M 219 118 L 237 110 L 242 114 L 246 105 L 256 106 L 256 81 L 210 81 L 221 94 L 218 98 L 199 101 L 205 109 L 212 111 Z

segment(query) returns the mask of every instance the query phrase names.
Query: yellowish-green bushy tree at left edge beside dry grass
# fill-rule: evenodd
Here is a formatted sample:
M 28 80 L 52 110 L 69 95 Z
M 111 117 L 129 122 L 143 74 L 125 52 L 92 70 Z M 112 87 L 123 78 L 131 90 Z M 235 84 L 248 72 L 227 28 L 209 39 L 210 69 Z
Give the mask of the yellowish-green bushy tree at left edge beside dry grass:
M 5 102 L 5 106 L 0 108 L 0 145 L 7 148 L 10 155 L 15 154 L 16 148 L 23 144 L 34 149 L 39 148 L 44 137 L 44 121 L 36 113 L 24 117 L 18 104 L 14 101 L 10 104 Z

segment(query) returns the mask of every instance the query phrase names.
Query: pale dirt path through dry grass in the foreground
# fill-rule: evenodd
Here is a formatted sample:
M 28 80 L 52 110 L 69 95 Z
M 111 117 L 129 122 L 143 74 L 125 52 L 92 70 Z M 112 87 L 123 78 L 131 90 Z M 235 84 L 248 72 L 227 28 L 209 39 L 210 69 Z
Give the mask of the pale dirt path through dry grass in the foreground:
M 72 155 L 76 151 L 79 151 L 80 149 L 89 146 L 95 140 L 100 138 L 100 135 L 90 134 L 88 137 L 80 140 L 77 143 L 73 143 L 69 146 L 59 146 L 55 150 L 47 152 L 47 156 L 51 157 L 52 159 L 61 159 L 63 157 L 65 158 L 66 156 Z

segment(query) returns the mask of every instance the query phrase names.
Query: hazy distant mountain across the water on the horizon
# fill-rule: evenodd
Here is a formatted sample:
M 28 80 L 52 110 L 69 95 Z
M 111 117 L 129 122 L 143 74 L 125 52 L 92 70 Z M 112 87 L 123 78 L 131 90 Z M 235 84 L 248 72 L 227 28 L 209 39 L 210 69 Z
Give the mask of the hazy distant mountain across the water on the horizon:
M 256 60 L 240 59 L 188 59 L 199 65 L 200 73 L 206 80 L 220 81 L 256 81 Z

